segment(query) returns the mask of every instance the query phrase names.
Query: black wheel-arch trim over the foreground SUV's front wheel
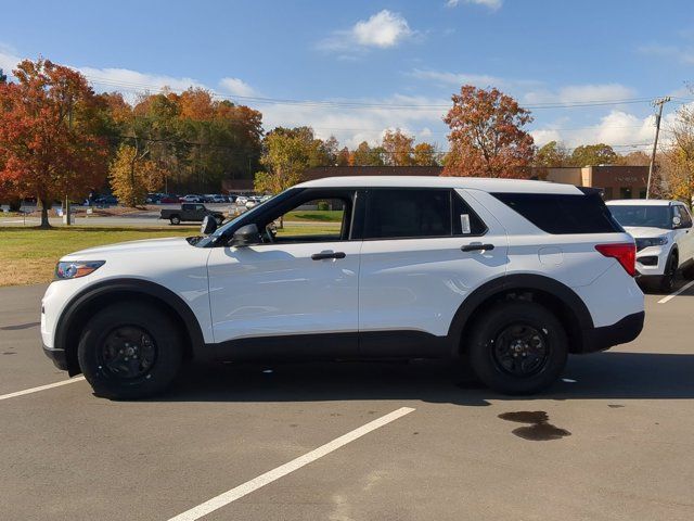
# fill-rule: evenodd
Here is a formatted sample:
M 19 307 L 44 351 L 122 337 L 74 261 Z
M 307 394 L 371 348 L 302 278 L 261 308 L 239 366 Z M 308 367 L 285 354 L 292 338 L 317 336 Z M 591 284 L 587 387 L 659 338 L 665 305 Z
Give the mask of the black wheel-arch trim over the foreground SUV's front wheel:
M 92 304 L 98 300 L 107 296 L 115 296 L 119 293 L 138 293 L 160 301 L 163 305 L 172 310 L 180 319 L 191 340 L 191 350 L 194 354 L 200 353 L 205 345 L 203 331 L 195 318 L 195 314 L 190 306 L 179 295 L 171 290 L 151 282 L 149 280 L 124 278 L 112 279 L 98 282 L 85 288 L 67 303 L 55 327 L 56 350 L 64 350 L 67 355 L 67 365 L 70 376 L 79 371 L 74 371 L 77 360 L 70 344 L 75 339 L 70 339 L 70 330 L 75 320 L 80 320 L 85 313 L 90 310 Z

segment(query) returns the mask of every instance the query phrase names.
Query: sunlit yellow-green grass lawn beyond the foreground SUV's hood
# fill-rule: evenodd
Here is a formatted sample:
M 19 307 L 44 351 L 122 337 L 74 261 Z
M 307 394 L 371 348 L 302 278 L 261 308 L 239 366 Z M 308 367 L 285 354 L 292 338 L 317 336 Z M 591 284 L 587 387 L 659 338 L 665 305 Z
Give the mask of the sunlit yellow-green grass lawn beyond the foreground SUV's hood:
M 53 279 L 55 263 L 70 252 L 86 247 L 172 236 L 195 236 L 198 228 L 98 228 L 55 227 L 50 230 L 37 228 L 0 228 L 0 287 L 36 284 Z

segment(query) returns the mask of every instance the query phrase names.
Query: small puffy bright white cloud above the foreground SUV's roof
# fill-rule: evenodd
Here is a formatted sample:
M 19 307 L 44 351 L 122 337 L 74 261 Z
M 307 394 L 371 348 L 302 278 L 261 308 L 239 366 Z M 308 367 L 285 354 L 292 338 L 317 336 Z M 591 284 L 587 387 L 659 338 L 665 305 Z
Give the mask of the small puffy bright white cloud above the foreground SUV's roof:
M 324 51 L 355 51 L 359 49 L 396 47 L 415 34 L 400 14 L 384 9 L 369 20 L 360 20 L 348 30 L 336 30 L 330 38 L 319 41 Z

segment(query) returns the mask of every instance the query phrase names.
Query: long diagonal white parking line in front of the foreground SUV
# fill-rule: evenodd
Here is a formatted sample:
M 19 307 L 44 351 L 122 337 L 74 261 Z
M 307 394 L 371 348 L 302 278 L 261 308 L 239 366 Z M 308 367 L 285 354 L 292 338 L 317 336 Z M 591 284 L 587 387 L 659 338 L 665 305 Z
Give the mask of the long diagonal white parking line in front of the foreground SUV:
M 347 445 L 355 440 L 363 436 L 364 434 L 369 434 L 371 431 L 375 431 L 376 429 L 390 423 L 391 421 L 397 420 L 398 418 L 403 417 L 404 415 L 409 415 L 414 411 L 411 407 L 401 407 L 393 412 L 387 414 L 386 416 L 382 416 L 369 423 L 361 425 L 354 431 L 348 432 L 339 437 L 336 437 L 332 442 L 326 443 L 325 445 L 321 445 L 320 447 L 311 450 L 310 453 L 305 454 L 304 456 L 299 456 L 292 461 L 284 463 L 277 469 L 272 469 L 265 474 L 260 474 L 259 476 L 246 481 L 245 483 L 227 491 L 217 497 L 213 497 L 211 499 L 198 505 L 197 507 L 193 507 L 190 510 L 184 511 L 183 513 L 179 513 L 175 518 L 169 519 L 169 521 L 195 521 L 196 519 L 202 518 L 203 516 L 207 516 L 215 510 L 229 505 L 236 499 L 250 494 L 254 491 L 257 491 L 261 486 L 265 486 L 269 483 L 272 483 L 275 480 L 288 474 L 290 472 L 294 472 L 295 470 L 305 467 L 311 461 L 316 461 L 327 454 L 337 450 L 339 447 Z

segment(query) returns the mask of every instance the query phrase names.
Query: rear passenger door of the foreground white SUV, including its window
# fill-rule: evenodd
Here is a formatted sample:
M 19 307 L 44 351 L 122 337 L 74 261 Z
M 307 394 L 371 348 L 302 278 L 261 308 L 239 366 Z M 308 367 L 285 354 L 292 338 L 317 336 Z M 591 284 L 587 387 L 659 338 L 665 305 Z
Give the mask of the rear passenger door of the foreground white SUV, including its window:
M 463 199 L 464 191 L 378 188 L 365 195 L 359 272 L 363 354 L 417 355 L 425 342 L 402 347 L 369 342 L 369 333 L 446 335 L 465 297 L 504 274 L 506 233 L 476 201 Z

